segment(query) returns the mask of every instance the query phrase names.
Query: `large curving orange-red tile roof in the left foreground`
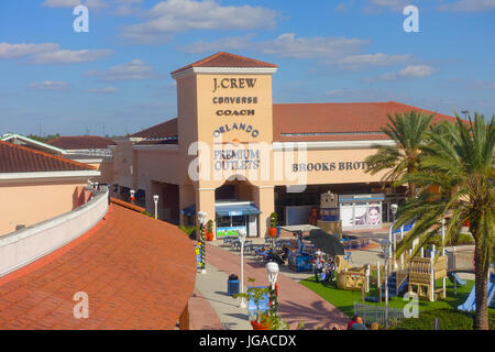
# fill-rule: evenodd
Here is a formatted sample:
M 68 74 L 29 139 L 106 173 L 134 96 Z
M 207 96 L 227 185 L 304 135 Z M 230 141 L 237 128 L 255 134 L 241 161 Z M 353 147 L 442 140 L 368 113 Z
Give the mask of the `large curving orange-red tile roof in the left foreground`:
M 177 227 L 111 205 L 106 220 L 0 278 L 0 329 L 167 329 L 196 280 L 194 242 Z M 89 317 L 75 319 L 74 295 Z

